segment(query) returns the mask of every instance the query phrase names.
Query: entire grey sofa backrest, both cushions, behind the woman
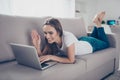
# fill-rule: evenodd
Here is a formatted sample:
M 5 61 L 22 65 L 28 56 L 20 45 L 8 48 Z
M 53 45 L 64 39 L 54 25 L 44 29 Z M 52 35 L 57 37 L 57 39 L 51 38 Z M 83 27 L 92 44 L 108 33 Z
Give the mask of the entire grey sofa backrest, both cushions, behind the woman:
M 42 37 L 42 25 L 45 17 L 20 17 L 0 15 L 0 62 L 15 59 L 9 43 L 32 45 L 31 30 L 36 29 Z M 82 18 L 58 18 L 64 30 L 70 31 L 80 37 L 87 35 Z

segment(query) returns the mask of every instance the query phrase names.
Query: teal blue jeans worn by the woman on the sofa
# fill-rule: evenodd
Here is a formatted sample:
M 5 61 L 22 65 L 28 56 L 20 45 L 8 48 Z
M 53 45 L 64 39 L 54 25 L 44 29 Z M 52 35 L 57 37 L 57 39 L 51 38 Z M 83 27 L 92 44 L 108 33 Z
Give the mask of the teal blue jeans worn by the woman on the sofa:
M 78 40 L 89 42 L 93 47 L 93 52 L 109 47 L 109 41 L 103 27 L 94 27 L 90 36 L 83 36 Z

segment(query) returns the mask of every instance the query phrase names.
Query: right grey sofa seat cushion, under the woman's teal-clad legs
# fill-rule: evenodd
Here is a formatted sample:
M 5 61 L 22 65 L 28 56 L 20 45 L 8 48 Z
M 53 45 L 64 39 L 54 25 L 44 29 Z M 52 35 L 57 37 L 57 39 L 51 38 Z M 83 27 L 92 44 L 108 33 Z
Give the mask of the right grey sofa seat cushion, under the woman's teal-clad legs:
M 110 60 L 114 60 L 116 57 L 115 50 L 115 48 L 100 50 L 92 54 L 81 56 L 81 59 L 86 61 L 87 71 L 90 71 Z

